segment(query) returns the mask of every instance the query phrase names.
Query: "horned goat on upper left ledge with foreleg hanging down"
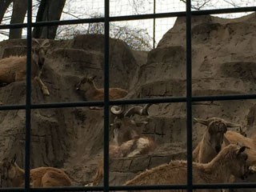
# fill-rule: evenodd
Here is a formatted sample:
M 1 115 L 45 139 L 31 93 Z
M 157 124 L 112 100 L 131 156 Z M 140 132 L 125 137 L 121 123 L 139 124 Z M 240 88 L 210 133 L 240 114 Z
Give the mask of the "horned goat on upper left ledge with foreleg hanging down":
M 49 40 L 44 40 L 41 44 L 37 39 L 33 38 L 34 46 L 31 55 L 31 77 L 34 78 L 42 89 L 42 93 L 50 95 L 46 85 L 42 82 L 40 76 L 42 67 L 46 58 L 46 48 L 50 46 Z M 0 83 L 11 83 L 23 81 L 26 79 L 26 56 L 10 56 L 0 60 Z

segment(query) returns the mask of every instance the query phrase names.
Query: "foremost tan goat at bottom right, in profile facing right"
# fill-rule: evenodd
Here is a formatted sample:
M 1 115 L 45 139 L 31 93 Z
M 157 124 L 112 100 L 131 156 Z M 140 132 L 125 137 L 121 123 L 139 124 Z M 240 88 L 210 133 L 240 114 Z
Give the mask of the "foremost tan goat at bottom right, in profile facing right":
M 247 154 L 244 152 L 246 146 L 239 147 L 234 144 L 226 146 L 220 153 L 206 164 L 193 162 L 193 182 L 194 183 L 224 183 L 229 182 L 230 176 L 245 178 L 249 173 L 246 166 Z M 154 167 L 138 174 L 134 179 L 125 183 L 129 185 L 166 185 L 166 184 L 186 184 L 187 162 L 171 161 L 168 164 Z M 177 191 L 177 190 L 169 190 Z M 178 190 L 186 191 L 186 190 Z M 219 190 L 200 190 L 219 191 Z

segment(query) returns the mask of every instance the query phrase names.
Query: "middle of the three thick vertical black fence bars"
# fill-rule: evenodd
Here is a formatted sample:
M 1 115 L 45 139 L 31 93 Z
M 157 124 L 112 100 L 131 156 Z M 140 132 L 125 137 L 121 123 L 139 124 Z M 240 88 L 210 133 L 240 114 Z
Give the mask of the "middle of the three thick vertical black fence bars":
M 104 19 L 104 191 L 109 191 L 109 42 L 110 2 L 105 0 Z

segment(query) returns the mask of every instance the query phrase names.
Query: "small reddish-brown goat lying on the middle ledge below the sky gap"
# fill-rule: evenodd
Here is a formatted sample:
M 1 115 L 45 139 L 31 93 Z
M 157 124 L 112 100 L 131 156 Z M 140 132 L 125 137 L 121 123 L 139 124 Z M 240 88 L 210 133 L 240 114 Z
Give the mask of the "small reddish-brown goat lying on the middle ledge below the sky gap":
M 84 77 L 78 83 L 76 88 L 82 96 L 86 99 L 86 101 L 102 101 L 104 100 L 104 89 L 97 88 L 94 83 L 94 78 L 96 75 L 92 77 Z M 110 88 L 109 90 L 109 98 L 110 100 L 124 98 L 128 94 L 127 90 L 123 90 L 122 88 Z M 102 109 L 97 107 L 91 107 L 90 109 Z

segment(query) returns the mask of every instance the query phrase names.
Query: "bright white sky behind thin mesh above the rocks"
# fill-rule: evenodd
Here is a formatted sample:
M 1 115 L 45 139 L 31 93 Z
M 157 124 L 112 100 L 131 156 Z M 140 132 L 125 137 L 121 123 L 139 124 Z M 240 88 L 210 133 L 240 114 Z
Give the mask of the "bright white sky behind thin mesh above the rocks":
M 38 10 L 40 1 L 33 0 L 32 20 Z M 186 10 L 185 0 L 111 0 L 110 1 L 110 17 L 124 15 L 139 15 L 153 13 L 179 12 Z M 61 20 L 81 19 L 81 18 L 99 18 L 104 16 L 104 2 L 102 0 L 67 0 L 62 12 Z M 6 11 L 2 24 L 10 23 L 12 14 L 11 3 Z M 192 10 L 212 10 L 219 8 L 234 8 L 256 6 L 256 0 L 194 0 L 191 2 Z M 250 13 L 237 14 L 217 14 L 222 18 L 238 18 Z M 26 20 L 26 18 L 25 18 Z M 158 18 L 148 20 L 136 20 L 130 22 L 110 23 L 110 37 L 120 38 L 135 50 L 151 50 L 157 46 L 162 36 L 174 26 L 176 18 Z M 26 22 L 26 21 L 24 21 Z M 103 24 L 80 24 L 72 26 L 58 26 L 57 39 L 74 38 L 77 34 L 103 34 Z M 121 35 L 122 34 L 122 35 Z M 132 35 L 127 35 L 132 34 Z M 0 39 L 7 39 L 9 30 L 0 31 Z M 136 37 L 138 40 L 130 42 L 131 38 Z M 23 29 L 23 38 L 26 38 L 26 29 Z

